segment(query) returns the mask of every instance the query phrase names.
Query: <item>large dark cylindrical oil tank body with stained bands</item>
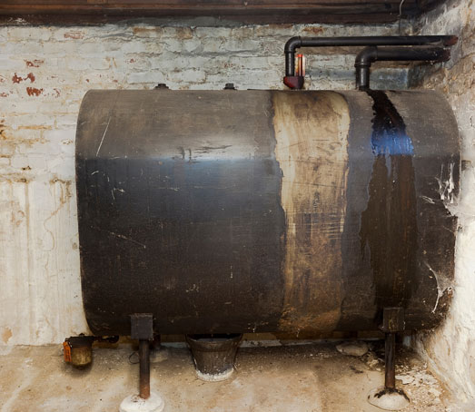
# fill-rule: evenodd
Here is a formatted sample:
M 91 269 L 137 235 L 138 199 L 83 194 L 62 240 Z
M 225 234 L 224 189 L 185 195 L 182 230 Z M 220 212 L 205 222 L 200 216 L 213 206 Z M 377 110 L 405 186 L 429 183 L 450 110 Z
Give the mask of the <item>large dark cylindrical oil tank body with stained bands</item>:
M 96 335 L 434 327 L 460 148 L 431 91 L 91 91 L 76 135 Z

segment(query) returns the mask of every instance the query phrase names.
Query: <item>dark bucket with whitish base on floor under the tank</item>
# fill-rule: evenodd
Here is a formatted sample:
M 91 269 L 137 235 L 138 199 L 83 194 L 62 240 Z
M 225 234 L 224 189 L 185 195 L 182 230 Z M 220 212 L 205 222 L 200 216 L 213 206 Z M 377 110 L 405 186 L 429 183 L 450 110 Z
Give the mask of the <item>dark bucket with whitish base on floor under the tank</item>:
M 192 348 L 196 376 L 207 382 L 218 382 L 233 375 L 234 358 L 242 334 L 186 335 Z

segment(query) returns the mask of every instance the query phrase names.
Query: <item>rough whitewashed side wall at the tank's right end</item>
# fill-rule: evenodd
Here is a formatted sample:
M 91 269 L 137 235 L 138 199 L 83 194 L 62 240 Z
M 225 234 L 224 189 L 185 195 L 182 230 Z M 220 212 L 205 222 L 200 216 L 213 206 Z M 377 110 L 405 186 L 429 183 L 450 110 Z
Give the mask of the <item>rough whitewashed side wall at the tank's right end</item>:
M 458 0 L 442 5 L 418 22 L 418 34 L 456 34 L 450 62 L 410 73 L 412 87 L 444 93 L 457 118 L 461 142 L 460 197 L 448 204 L 459 221 L 455 285 L 450 312 L 433 333 L 416 339 L 456 396 L 475 407 L 475 5 Z

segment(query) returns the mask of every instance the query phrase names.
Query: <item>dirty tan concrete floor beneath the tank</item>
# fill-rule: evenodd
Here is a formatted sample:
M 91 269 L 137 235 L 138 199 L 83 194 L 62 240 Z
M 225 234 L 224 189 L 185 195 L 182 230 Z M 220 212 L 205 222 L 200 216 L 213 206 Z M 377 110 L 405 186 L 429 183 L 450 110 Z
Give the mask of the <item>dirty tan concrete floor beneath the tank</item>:
M 153 390 L 165 400 L 165 412 L 381 412 L 366 401 L 383 383 L 379 343 L 362 357 L 342 355 L 332 343 L 276 344 L 248 342 L 239 349 L 233 377 L 215 383 L 195 377 L 187 348 L 163 347 L 152 358 Z M 0 411 L 117 411 L 137 391 L 133 351 L 124 344 L 94 348 L 93 366 L 78 370 L 64 364 L 57 345 L 3 349 Z M 405 411 L 458 410 L 414 354 L 399 353 L 398 366 L 398 383 L 411 398 Z

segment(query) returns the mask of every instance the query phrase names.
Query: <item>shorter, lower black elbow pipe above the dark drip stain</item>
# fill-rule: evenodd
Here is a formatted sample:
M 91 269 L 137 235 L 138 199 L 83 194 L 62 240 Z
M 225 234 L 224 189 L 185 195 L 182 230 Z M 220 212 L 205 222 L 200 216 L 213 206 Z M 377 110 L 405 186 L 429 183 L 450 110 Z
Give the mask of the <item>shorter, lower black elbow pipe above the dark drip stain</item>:
M 431 47 L 365 47 L 356 56 L 354 66 L 356 67 L 356 87 L 358 89 L 370 88 L 371 64 L 381 61 L 426 61 L 426 62 L 446 62 L 450 59 L 450 50 L 440 46 Z

